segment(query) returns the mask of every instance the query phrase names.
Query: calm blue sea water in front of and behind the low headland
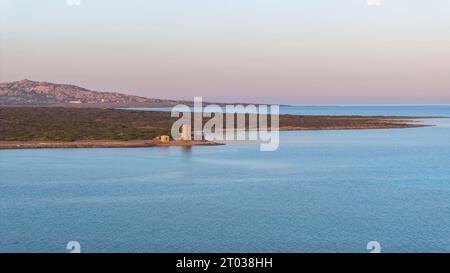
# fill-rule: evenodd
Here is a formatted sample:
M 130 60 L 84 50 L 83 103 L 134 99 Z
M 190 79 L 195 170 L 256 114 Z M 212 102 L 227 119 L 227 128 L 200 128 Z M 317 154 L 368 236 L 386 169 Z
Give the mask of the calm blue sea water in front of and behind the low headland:
M 308 113 L 450 116 L 327 107 Z M 282 132 L 275 152 L 0 150 L 0 252 L 450 252 L 450 121 L 433 122 Z

